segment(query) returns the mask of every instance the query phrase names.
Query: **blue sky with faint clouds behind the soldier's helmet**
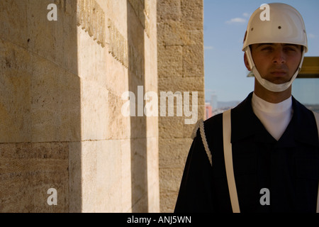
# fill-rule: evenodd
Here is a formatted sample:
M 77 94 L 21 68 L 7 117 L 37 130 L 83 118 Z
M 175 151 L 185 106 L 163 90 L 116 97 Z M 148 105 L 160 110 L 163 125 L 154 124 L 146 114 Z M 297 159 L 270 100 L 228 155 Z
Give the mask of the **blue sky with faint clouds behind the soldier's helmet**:
M 273 1 L 204 0 L 206 100 L 215 92 L 218 101 L 242 101 L 253 91 L 254 79 L 247 78 L 248 71 L 243 62 L 242 40 L 250 15 L 262 4 L 271 2 Z M 309 50 L 306 56 L 319 56 L 319 1 L 275 2 L 289 4 L 301 13 L 308 34 Z M 319 79 L 315 82 L 319 86 Z M 294 82 L 296 89 L 293 90 L 296 92 L 300 90 L 298 83 Z M 315 96 L 318 99 L 319 94 Z M 309 96 L 304 98 L 310 99 Z

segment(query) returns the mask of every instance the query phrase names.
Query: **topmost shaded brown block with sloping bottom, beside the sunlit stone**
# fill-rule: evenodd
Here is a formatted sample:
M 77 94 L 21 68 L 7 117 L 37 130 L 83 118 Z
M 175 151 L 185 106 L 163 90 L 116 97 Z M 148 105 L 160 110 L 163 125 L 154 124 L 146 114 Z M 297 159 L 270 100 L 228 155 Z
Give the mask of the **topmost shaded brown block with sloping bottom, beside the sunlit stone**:
M 74 3 L 72 14 L 57 10 L 57 21 L 47 20 L 50 0 L 30 0 L 27 5 L 28 50 L 55 62 L 70 72 L 77 72 L 77 17 Z

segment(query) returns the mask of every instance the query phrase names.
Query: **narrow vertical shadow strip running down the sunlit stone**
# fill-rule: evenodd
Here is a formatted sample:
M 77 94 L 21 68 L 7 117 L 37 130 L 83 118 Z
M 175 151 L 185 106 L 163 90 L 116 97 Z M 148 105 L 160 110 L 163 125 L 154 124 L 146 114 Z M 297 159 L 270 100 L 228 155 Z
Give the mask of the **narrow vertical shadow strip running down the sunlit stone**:
M 138 9 L 127 2 L 128 15 L 128 90 L 143 99 L 142 108 L 135 105 L 136 116 L 130 117 L 132 211 L 148 212 L 147 197 L 147 125 L 144 110 L 144 92 L 138 94 L 138 86 L 145 87 L 144 28 L 138 17 Z M 141 98 L 142 97 L 142 98 Z M 139 115 L 139 116 L 138 116 Z M 142 115 L 142 116 L 141 116 Z

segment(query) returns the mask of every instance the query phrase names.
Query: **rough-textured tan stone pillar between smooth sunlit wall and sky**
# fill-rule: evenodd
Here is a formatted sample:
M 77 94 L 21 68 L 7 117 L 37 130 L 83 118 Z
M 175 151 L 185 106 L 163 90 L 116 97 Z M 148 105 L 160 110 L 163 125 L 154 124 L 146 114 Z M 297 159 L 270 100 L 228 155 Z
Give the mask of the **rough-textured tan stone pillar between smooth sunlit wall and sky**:
M 198 118 L 204 117 L 203 0 L 157 1 L 158 93 L 198 94 Z M 180 96 L 179 96 L 180 97 Z M 192 96 L 190 96 L 190 104 Z M 161 212 L 172 212 L 179 191 L 194 123 L 183 111 L 159 118 L 159 190 Z M 168 105 L 168 104 L 167 104 Z M 183 103 L 183 107 L 185 103 Z M 162 107 L 162 106 L 160 106 Z M 192 106 L 189 106 L 191 110 Z M 168 106 L 167 106 L 168 109 Z

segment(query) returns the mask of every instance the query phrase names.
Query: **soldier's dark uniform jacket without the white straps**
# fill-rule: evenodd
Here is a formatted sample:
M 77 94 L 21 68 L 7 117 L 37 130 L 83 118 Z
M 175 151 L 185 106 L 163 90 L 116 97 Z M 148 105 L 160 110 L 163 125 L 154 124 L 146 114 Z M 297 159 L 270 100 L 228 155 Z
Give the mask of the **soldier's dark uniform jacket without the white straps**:
M 313 112 L 292 98 L 293 117 L 279 141 L 252 111 L 252 93 L 231 112 L 233 167 L 240 212 L 315 212 L 319 179 Z M 175 212 L 232 212 L 223 154 L 223 115 L 204 122 L 191 145 Z M 269 189 L 269 205 L 260 202 Z

